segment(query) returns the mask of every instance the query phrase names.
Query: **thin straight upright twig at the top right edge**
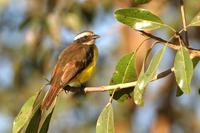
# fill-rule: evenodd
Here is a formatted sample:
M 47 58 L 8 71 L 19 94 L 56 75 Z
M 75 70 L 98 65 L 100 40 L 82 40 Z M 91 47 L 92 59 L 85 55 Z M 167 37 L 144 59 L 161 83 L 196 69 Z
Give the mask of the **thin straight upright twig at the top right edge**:
M 185 35 L 186 47 L 189 47 L 187 23 L 186 23 L 185 8 L 184 8 L 183 0 L 180 0 L 180 6 L 181 6 L 181 16 L 182 16 L 182 22 L 183 22 L 183 30 L 184 30 L 184 35 Z

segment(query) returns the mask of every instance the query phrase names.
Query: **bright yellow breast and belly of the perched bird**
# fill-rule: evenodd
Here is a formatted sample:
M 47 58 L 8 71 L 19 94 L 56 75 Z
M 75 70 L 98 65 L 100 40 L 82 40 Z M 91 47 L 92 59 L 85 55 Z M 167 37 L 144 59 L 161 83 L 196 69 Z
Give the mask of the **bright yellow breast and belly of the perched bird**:
M 85 83 L 90 79 L 96 67 L 97 57 L 98 50 L 97 47 L 94 45 L 94 57 L 92 59 L 92 62 L 81 73 L 79 73 L 70 81 L 70 86 L 80 86 L 82 83 Z

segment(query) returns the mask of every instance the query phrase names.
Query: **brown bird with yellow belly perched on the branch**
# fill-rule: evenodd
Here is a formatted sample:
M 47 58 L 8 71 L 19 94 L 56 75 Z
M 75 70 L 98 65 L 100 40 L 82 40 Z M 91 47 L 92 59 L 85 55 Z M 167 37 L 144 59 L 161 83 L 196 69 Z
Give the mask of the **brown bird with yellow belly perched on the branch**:
M 91 78 L 98 58 L 95 41 L 99 37 L 92 31 L 83 31 L 60 53 L 42 109 L 47 110 L 64 87 L 77 87 Z

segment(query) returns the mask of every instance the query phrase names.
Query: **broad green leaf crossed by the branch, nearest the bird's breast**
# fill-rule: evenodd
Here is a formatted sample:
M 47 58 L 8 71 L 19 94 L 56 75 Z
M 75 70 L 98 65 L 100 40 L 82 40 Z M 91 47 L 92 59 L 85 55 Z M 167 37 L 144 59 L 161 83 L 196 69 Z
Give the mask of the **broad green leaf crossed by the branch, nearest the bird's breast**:
M 135 68 L 135 54 L 130 53 L 122 57 L 116 65 L 110 85 L 128 83 L 137 80 Z M 133 88 L 118 90 L 114 93 L 113 99 L 124 102 L 130 97 Z M 112 94 L 112 91 L 110 92 Z

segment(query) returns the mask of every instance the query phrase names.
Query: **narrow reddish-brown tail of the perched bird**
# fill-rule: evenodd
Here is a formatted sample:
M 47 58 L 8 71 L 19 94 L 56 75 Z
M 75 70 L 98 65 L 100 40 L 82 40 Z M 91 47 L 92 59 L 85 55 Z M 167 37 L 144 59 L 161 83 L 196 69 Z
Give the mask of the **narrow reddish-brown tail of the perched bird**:
M 61 86 L 60 85 L 52 85 L 48 94 L 46 95 L 43 103 L 42 103 L 42 109 L 48 109 L 53 101 L 55 100 L 56 96 L 58 95 L 58 92 L 60 91 Z

